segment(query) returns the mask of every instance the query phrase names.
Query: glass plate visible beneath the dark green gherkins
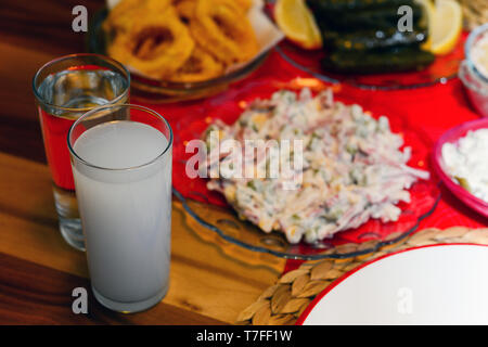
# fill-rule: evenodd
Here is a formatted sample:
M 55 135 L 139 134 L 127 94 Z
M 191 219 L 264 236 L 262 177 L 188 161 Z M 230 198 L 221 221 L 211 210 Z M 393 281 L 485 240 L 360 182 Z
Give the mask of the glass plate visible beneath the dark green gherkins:
M 273 0 L 267 0 L 268 15 L 272 17 Z M 346 82 L 368 90 L 398 90 L 427 87 L 445 83 L 458 75 L 459 66 L 464 59 L 464 33 L 455 49 L 437 56 L 433 64 L 419 72 L 406 72 L 381 75 L 337 75 L 324 72 L 320 61 L 325 56 L 322 50 L 305 50 L 288 40 L 283 40 L 275 49 L 281 56 L 295 67 L 328 82 Z

